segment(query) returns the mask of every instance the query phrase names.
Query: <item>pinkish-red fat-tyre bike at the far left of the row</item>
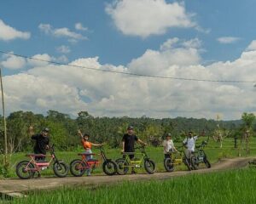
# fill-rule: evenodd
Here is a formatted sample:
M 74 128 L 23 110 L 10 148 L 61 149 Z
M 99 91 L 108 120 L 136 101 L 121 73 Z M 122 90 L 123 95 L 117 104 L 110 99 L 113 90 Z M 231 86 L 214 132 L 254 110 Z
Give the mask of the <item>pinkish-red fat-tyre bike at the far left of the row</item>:
M 50 154 L 27 154 L 30 158 L 30 161 L 20 161 L 16 165 L 16 174 L 21 179 L 32 178 L 36 172 L 40 172 L 46 168 L 49 168 L 52 162 L 53 163 L 53 171 L 57 177 L 64 178 L 68 173 L 68 166 L 64 161 L 60 161 L 57 159 L 55 155 L 54 144 L 49 148 Z M 40 157 L 50 157 L 49 161 L 46 160 L 38 160 Z

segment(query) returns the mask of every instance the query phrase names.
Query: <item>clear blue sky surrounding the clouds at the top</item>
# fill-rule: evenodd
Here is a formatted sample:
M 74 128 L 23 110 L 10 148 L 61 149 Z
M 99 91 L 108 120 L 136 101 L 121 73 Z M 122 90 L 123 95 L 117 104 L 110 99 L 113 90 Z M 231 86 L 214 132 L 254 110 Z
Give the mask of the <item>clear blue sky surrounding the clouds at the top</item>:
M 33 55 L 48 53 L 57 55 L 55 47 L 65 44 L 72 52 L 69 59 L 99 56 L 102 63 L 125 65 L 144 53 L 147 48 L 159 48 L 166 38 L 180 37 L 190 39 L 199 37 L 206 52 L 202 54 L 208 60 L 236 59 L 244 48 L 254 39 L 253 0 L 241 1 L 185 1 L 188 13 L 195 14 L 195 20 L 209 33 L 187 28 L 170 28 L 164 35 L 150 36 L 146 39 L 122 35 L 113 25 L 105 12 L 106 4 L 112 1 L 1 1 L 0 19 L 19 31 L 30 31 L 32 37 L 27 41 L 14 40 L 1 42 L 3 50 Z M 173 1 L 166 1 L 172 3 Z M 41 23 L 55 28 L 67 27 L 75 31 L 74 24 L 80 22 L 89 31 L 83 35 L 88 40 L 71 45 L 67 38 L 47 37 L 39 31 Z M 222 44 L 218 37 L 240 37 L 236 43 Z

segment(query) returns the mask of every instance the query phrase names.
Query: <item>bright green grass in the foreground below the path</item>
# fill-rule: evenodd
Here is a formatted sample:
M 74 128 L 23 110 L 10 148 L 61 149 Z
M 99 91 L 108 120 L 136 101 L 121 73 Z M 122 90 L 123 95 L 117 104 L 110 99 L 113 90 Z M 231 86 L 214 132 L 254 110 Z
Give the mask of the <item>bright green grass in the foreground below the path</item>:
M 165 181 L 126 182 L 94 190 L 67 188 L 30 193 L 12 203 L 215 204 L 255 203 L 256 170 L 194 174 Z

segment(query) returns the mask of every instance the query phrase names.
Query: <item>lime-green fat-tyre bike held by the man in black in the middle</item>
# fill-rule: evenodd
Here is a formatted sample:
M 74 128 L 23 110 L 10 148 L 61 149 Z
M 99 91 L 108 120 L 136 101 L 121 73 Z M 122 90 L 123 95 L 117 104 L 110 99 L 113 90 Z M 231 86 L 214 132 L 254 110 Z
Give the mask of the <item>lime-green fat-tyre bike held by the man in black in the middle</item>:
M 142 168 L 144 167 L 146 172 L 149 174 L 153 174 L 155 172 L 156 166 L 154 161 L 150 160 L 144 146 L 139 146 L 135 148 L 140 150 L 140 152 L 123 152 L 123 158 L 117 159 L 115 162 L 118 166 L 117 173 L 119 175 L 124 175 L 128 173 L 129 167 L 132 168 Z M 130 159 L 130 156 L 139 156 L 139 158 L 135 157 Z

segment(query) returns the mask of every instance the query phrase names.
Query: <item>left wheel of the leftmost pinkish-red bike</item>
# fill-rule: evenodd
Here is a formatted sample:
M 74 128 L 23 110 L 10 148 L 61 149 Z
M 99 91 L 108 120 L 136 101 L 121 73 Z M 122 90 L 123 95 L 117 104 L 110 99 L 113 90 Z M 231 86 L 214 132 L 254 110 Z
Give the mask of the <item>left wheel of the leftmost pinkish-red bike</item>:
M 35 174 L 32 168 L 34 168 L 34 165 L 30 161 L 20 161 L 16 165 L 16 174 L 21 179 L 32 178 Z

